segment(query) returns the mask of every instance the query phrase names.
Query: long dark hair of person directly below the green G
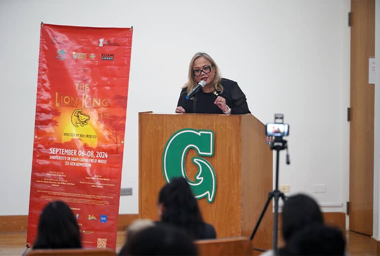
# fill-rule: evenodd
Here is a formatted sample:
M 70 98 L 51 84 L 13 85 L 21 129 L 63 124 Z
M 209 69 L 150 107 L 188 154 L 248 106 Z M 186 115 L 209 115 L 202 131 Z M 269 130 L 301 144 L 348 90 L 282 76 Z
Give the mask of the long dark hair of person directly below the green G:
M 158 195 L 162 205 L 161 222 L 183 228 L 194 239 L 204 238 L 205 223 L 185 178 L 173 178 Z

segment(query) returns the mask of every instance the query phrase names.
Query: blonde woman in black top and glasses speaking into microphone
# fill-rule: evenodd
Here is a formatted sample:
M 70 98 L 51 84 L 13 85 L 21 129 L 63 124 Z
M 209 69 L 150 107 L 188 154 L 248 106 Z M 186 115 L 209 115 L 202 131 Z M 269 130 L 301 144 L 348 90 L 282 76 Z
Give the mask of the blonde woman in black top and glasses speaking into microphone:
M 203 82 L 204 81 L 204 82 Z M 247 99 L 236 82 L 222 78 L 206 53 L 196 53 L 189 65 L 176 113 L 248 114 Z

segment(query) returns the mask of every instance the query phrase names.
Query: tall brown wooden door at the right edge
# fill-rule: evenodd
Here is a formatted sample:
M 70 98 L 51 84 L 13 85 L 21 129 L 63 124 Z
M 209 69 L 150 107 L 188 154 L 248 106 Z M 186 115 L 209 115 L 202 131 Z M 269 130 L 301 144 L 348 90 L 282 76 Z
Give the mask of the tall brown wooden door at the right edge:
M 351 0 L 349 229 L 373 234 L 375 0 Z

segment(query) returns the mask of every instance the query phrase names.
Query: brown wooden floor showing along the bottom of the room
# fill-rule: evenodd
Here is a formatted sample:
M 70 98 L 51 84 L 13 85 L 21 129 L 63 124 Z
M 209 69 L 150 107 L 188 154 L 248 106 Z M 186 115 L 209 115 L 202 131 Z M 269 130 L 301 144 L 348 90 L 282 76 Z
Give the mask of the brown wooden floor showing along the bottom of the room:
M 371 237 L 346 231 L 347 252 L 350 256 L 371 255 Z M 120 250 L 125 241 L 125 232 L 117 232 L 116 252 Z M 2 232 L 0 233 L 0 255 L 22 255 L 25 251 L 26 232 Z M 29 249 L 30 250 L 30 249 Z

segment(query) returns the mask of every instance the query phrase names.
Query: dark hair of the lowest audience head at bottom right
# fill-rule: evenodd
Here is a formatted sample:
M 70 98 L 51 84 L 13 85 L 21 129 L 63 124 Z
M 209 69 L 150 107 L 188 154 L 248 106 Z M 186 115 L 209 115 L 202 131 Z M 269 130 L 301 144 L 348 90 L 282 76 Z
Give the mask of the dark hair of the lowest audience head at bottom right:
M 306 226 L 292 236 L 286 245 L 286 255 L 344 255 L 342 231 L 322 224 Z

